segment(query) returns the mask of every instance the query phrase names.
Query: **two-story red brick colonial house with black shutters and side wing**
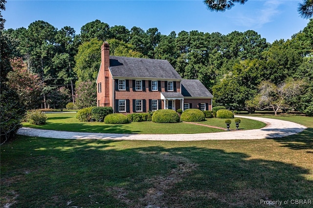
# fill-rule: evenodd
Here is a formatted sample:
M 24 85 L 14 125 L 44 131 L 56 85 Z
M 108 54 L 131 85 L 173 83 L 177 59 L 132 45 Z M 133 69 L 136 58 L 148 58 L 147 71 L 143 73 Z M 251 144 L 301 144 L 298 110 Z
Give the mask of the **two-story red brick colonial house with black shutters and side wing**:
M 116 113 L 158 109 L 211 110 L 212 94 L 199 80 L 183 80 L 166 60 L 110 56 L 110 45 L 101 47 L 97 77 L 97 105 Z

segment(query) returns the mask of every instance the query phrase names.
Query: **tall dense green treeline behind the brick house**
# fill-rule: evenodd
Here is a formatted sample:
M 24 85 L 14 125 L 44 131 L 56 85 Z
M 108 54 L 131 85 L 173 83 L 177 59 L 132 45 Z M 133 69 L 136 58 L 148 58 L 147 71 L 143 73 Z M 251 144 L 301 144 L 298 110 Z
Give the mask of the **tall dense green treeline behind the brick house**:
M 245 109 L 262 81 L 279 85 L 305 79 L 307 85 L 292 98 L 292 107 L 313 108 L 313 20 L 290 40 L 273 43 L 253 30 L 162 35 L 157 28 L 128 29 L 99 20 L 82 26 L 79 35 L 70 26 L 57 29 L 45 21 L 2 32 L 17 41 L 15 57 L 22 57 L 27 69 L 45 81 L 45 88 L 95 82 L 100 46 L 109 41 L 111 55 L 168 60 L 182 78 L 199 79 L 213 93 L 214 105 Z

